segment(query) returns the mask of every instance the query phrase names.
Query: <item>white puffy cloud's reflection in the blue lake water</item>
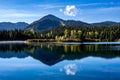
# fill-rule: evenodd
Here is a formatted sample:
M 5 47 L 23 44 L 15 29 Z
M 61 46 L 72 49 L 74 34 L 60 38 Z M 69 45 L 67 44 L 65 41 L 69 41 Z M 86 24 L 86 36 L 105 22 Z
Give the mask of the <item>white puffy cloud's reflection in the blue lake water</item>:
M 60 71 L 63 71 L 63 70 L 60 69 Z M 77 72 L 77 65 L 76 64 L 65 65 L 64 71 L 67 75 L 75 75 Z

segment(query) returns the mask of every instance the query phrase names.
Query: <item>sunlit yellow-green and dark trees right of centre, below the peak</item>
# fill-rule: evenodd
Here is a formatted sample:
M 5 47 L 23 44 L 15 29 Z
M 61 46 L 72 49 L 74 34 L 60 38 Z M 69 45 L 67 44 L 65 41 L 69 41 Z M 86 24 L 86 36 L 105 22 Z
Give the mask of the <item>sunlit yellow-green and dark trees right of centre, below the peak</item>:
M 61 26 L 37 33 L 39 38 L 81 41 L 116 41 L 120 39 L 120 27 L 66 27 Z

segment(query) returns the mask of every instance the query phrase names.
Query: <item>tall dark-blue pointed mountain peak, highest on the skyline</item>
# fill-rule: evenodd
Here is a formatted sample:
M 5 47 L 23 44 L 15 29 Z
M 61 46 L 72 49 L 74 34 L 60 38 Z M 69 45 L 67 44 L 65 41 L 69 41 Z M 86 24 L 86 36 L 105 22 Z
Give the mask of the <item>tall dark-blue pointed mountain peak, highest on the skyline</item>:
M 49 29 L 51 27 L 60 26 L 62 21 L 62 19 L 50 14 L 41 18 L 38 21 L 31 23 L 27 26 L 27 29 L 33 28 L 35 31 Z

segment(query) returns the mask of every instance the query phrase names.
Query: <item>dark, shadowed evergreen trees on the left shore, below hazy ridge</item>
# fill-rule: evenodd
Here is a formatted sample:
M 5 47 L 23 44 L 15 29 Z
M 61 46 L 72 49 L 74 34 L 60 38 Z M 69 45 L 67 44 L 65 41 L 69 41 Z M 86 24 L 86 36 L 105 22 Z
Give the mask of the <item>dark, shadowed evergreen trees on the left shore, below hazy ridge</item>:
M 24 30 L 2 30 L 0 31 L 0 41 L 7 40 L 26 40 L 35 38 L 31 31 Z

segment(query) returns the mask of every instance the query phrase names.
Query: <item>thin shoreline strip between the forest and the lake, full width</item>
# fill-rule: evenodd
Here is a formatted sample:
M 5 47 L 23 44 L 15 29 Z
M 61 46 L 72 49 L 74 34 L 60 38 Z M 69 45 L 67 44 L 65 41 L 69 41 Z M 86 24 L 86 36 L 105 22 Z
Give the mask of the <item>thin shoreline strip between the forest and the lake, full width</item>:
M 82 41 L 82 40 L 55 40 L 55 39 L 27 39 L 27 40 L 7 40 L 7 41 L 0 41 L 0 44 L 26 44 L 26 43 L 39 43 L 39 42 L 54 42 L 54 43 L 83 43 L 83 44 L 101 44 L 102 43 L 107 43 L 107 44 L 110 44 L 110 43 L 120 43 L 120 41 L 95 41 L 95 40 L 85 40 L 85 41 Z

